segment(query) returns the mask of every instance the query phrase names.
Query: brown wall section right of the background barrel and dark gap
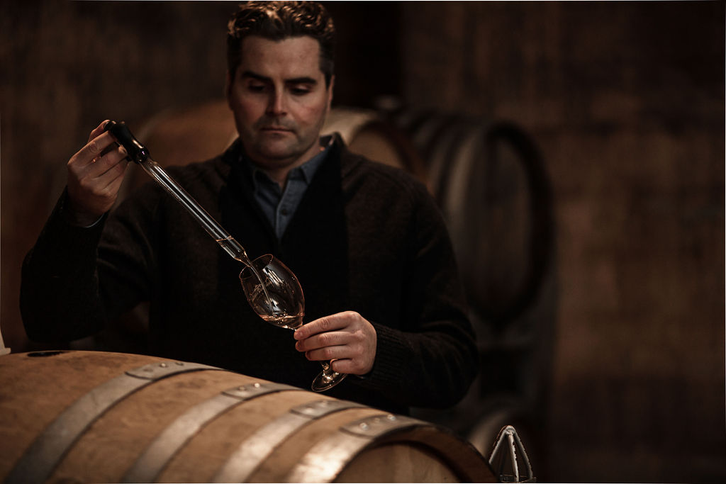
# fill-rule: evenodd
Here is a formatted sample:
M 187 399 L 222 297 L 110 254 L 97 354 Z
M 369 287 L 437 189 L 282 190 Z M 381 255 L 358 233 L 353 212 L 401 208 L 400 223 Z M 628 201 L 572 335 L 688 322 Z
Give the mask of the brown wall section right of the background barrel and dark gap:
M 724 2 L 415 2 L 401 25 L 407 103 L 514 120 L 550 173 L 547 477 L 723 480 Z

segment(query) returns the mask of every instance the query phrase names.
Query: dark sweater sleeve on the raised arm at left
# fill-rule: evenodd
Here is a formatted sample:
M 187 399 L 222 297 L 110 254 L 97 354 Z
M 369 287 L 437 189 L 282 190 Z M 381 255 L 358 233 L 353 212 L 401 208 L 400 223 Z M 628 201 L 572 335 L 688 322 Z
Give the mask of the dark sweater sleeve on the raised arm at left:
M 149 292 L 139 227 L 125 221 L 123 210 L 90 227 L 73 226 L 64 215 L 67 197 L 61 195 L 23 261 L 20 311 L 30 340 L 94 335 Z

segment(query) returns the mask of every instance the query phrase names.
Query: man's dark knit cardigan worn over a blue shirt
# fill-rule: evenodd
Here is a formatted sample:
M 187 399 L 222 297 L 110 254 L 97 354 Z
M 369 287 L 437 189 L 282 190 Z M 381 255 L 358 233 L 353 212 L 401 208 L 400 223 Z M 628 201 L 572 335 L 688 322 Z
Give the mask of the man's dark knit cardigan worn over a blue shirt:
M 476 346 L 444 221 L 423 184 L 337 137 L 278 241 L 240 149 L 168 172 L 250 258 L 272 253 L 295 272 L 306 321 L 346 310 L 371 321 L 372 372 L 327 394 L 396 413 L 456 403 L 476 373 Z M 295 350 L 290 330 L 253 313 L 242 265 L 160 186 L 145 184 L 91 228 L 70 226 L 64 201 L 23 263 L 30 339 L 85 337 L 150 301 L 150 353 L 309 388 L 319 363 Z

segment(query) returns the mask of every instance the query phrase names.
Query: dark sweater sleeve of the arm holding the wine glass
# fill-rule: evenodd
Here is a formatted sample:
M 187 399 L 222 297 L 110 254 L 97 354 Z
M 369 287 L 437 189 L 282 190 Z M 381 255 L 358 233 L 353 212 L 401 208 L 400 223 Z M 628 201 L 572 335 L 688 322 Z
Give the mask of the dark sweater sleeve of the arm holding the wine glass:
M 406 406 L 446 408 L 467 392 L 478 352 L 444 219 L 428 194 L 416 200 L 404 321 L 400 329 L 371 321 L 378 335 L 375 364 L 358 384 Z

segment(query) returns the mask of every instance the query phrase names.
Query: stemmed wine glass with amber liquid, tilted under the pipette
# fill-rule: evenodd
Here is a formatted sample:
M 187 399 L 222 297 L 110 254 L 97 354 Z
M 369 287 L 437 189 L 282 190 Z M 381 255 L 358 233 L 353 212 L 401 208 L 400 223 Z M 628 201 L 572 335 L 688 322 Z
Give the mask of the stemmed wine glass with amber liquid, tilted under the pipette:
M 303 288 L 293 271 L 271 254 L 261 255 L 243 268 L 240 282 L 250 306 L 262 319 L 293 331 L 303 325 Z M 333 371 L 330 361 L 321 361 L 320 364 L 322 372 L 311 385 L 316 392 L 338 385 L 347 376 L 346 373 Z

